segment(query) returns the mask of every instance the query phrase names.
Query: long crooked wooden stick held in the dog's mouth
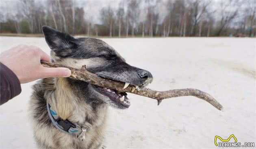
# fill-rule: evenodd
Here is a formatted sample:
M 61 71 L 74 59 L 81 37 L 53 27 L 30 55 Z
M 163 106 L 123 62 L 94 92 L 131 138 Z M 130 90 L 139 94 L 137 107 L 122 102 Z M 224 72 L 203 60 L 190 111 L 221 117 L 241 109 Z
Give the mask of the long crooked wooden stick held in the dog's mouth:
M 161 103 L 163 99 L 168 99 L 172 97 L 182 97 L 182 96 L 195 96 L 197 98 L 203 99 L 204 101 L 207 101 L 211 105 L 213 105 L 215 108 L 221 110 L 222 105 L 218 103 L 210 94 L 203 92 L 201 90 L 197 90 L 194 88 L 184 88 L 184 89 L 174 89 L 174 90 L 167 90 L 167 91 L 156 91 L 151 90 L 149 88 L 143 88 L 141 90 L 135 89 L 135 86 L 129 85 L 127 88 L 123 89 L 124 82 L 109 80 L 105 78 L 101 78 L 94 73 L 91 73 L 86 70 L 86 66 L 83 65 L 81 69 L 76 69 L 72 67 L 67 67 L 63 65 L 59 65 L 56 63 L 50 63 L 41 61 L 41 64 L 44 67 L 66 67 L 69 68 L 72 72 L 72 75 L 69 78 L 75 78 L 78 80 L 82 80 L 88 83 L 91 83 L 96 86 L 101 86 L 105 88 L 110 88 L 113 90 L 117 90 L 119 92 L 130 92 L 132 94 L 138 94 L 144 97 L 149 97 L 152 99 L 156 99 L 158 102 L 158 105 Z M 133 91 L 133 92 L 132 92 Z

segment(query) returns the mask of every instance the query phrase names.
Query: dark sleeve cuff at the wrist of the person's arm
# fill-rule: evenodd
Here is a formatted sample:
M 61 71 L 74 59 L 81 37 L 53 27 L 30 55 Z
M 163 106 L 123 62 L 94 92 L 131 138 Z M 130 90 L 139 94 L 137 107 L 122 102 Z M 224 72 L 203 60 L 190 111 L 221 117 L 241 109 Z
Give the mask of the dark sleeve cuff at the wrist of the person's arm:
M 11 69 L 0 63 L 0 105 L 17 96 L 20 92 L 20 80 Z

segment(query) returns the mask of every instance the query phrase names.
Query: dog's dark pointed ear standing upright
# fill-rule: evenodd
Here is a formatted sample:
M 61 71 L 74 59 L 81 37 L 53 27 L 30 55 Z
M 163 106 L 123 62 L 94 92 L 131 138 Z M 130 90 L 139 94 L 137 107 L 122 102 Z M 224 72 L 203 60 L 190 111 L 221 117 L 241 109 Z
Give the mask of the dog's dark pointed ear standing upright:
M 48 46 L 58 57 L 68 57 L 78 48 L 78 40 L 67 33 L 62 33 L 48 26 L 42 27 Z

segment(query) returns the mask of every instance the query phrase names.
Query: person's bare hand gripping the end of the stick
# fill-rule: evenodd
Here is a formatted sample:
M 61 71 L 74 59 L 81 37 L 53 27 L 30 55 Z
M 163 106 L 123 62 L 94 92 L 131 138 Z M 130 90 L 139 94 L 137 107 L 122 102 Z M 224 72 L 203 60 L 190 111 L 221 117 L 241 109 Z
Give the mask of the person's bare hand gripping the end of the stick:
M 20 83 L 28 83 L 39 78 L 69 77 L 67 68 L 43 67 L 40 61 L 51 61 L 50 56 L 36 46 L 20 45 L 0 55 L 0 62 L 11 69 Z

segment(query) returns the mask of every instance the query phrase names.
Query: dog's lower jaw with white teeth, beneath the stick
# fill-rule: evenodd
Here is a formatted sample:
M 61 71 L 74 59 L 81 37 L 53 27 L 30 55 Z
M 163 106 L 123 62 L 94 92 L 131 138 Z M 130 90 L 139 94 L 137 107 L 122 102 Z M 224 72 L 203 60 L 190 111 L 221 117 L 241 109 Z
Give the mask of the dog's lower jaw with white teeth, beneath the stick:
M 119 92 L 117 90 L 103 88 L 100 86 L 95 86 L 95 88 L 97 88 L 101 94 L 107 96 L 111 101 L 118 105 L 120 109 L 126 109 L 130 107 L 130 101 L 126 92 Z

